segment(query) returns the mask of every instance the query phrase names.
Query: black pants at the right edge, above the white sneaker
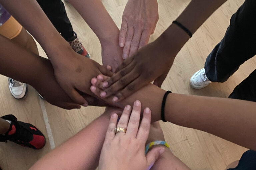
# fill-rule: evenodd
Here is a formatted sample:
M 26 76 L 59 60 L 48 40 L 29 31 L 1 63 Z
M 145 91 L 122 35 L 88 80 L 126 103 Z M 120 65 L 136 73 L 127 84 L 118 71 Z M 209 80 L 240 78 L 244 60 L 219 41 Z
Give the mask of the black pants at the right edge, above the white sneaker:
M 206 75 L 212 82 L 224 82 L 255 54 L 256 0 L 246 0 L 232 15 L 224 38 L 208 55 L 204 66 Z M 256 70 L 234 89 L 229 98 L 256 102 Z

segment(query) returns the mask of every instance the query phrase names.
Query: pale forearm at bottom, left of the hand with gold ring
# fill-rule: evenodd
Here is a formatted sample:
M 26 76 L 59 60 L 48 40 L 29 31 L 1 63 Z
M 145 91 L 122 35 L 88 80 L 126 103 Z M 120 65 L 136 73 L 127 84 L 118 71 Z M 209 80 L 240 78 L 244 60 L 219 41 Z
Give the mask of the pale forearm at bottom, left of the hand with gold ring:
M 65 143 L 37 161 L 30 170 L 96 169 L 109 124 L 103 114 Z

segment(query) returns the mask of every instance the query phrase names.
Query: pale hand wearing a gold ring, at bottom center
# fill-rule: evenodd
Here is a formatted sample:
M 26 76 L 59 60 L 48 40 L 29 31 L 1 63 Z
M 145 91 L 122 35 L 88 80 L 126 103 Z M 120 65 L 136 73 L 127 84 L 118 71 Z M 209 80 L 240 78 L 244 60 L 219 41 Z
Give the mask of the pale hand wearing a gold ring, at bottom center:
M 145 108 L 141 124 L 141 103 L 135 101 L 131 113 L 127 105 L 117 124 L 117 114 L 110 118 L 109 127 L 101 150 L 99 170 L 146 170 L 158 159 L 165 148 L 156 147 L 145 155 L 145 144 L 149 134 L 151 111 Z M 130 119 L 129 119 L 130 118 Z M 129 121 L 129 123 L 128 123 Z M 115 134 L 115 127 L 127 128 L 126 133 Z

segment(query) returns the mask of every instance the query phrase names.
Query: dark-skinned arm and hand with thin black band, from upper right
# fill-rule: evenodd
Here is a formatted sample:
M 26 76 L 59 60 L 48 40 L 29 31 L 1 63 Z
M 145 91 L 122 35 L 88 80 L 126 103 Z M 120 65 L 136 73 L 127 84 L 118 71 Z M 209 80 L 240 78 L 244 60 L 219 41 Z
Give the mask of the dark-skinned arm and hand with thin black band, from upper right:
M 194 33 L 225 1 L 192 0 L 176 21 Z M 184 30 L 175 24 L 170 25 L 158 39 L 141 48 L 116 69 L 116 74 L 105 86 L 106 96 L 115 93 L 122 100 L 153 80 L 160 87 L 176 55 L 188 40 L 189 35 Z

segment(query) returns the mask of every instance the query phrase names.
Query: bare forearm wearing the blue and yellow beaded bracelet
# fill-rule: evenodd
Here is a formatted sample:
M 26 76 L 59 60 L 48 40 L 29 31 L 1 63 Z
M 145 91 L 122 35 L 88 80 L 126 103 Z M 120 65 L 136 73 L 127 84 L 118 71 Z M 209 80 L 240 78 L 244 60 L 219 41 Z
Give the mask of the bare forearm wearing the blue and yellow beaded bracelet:
M 154 122 L 150 126 L 149 138 L 147 143 L 155 140 L 163 140 L 164 134 L 159 125 L 159 122 Z M 190 170 L 179 158 L 174 156 L 170 149 L 164 151 L 164 153 L 157 159 L 155 164 L 150 170 Z

